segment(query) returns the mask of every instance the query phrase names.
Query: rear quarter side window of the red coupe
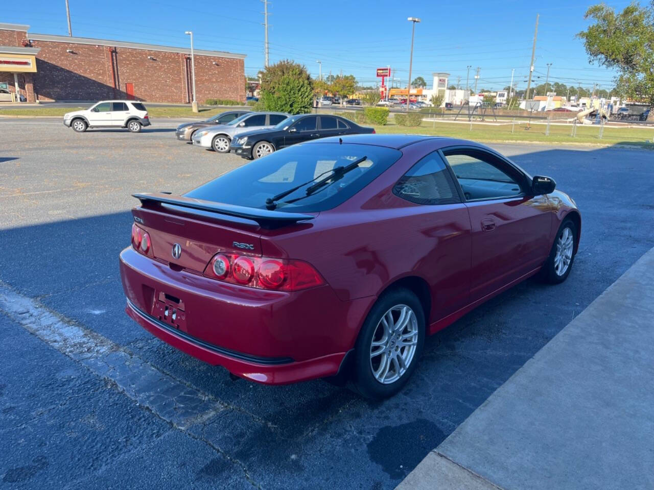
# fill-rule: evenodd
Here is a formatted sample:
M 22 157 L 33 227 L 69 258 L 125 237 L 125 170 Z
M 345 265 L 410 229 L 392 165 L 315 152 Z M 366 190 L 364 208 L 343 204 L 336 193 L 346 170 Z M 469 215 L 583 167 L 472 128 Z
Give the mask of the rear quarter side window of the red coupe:
M 406 172 L 393 193 L 416 204 L 460 203 L 450 172 L 438 152 L 423 157 Z

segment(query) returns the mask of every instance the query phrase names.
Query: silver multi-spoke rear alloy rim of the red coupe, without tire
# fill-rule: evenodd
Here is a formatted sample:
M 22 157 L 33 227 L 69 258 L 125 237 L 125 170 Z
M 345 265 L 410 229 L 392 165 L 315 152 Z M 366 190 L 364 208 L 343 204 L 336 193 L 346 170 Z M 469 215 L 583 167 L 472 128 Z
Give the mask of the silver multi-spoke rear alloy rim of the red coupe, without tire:
M 405 304 L 390 308 L 379 320 L 370 345 L 370 368 L 375 380 L 391 384 L 407 371 L 418 344 L 418 319 Z

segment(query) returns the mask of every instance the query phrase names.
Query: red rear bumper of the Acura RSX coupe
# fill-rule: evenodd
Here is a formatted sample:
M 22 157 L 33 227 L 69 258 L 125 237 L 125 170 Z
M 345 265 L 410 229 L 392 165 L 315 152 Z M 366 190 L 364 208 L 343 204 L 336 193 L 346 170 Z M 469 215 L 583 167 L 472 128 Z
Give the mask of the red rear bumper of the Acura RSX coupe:
M 340 301 L 329 286 L 295 293 L 220 283 L 172 270 L 131 247 L 120 254 L 126 312 L 171 346 L 264 384 L 336 374 L 371 301 Z M 161 292 L 184 302 L 186 324 L 156 318 Z

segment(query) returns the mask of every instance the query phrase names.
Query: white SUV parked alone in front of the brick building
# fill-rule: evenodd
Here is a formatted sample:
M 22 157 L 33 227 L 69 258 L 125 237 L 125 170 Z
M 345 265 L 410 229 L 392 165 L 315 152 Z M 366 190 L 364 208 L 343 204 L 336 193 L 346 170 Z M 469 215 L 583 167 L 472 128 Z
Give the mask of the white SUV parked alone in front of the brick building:
M 148 110 L 135 101 L 100 101 L 85 110 L 63 114 L 63 124 L 83 133 L 88 127 L 126 127 L 132 133 L 150 125 Z

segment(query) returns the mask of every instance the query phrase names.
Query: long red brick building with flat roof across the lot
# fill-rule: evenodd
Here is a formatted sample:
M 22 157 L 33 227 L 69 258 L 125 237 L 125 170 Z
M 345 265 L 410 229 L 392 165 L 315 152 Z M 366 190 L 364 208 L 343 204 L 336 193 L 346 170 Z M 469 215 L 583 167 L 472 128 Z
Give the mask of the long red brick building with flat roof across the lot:
M 245 55 L 194 50 L 196 91 L 245 102 Z M 190 103 L 190 48 L 29 33 L 0 23 L 0 88 L 33 101 Z

